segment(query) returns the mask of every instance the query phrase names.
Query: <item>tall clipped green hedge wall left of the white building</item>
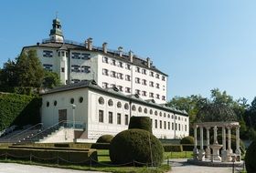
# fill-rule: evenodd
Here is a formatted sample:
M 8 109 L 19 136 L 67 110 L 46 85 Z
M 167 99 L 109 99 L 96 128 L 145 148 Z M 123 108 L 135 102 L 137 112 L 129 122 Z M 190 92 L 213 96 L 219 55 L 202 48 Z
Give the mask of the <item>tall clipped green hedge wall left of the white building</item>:
M 0 93 L 0 130 L 39 123 L 41 103 L 40 97 Z

